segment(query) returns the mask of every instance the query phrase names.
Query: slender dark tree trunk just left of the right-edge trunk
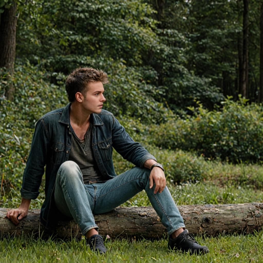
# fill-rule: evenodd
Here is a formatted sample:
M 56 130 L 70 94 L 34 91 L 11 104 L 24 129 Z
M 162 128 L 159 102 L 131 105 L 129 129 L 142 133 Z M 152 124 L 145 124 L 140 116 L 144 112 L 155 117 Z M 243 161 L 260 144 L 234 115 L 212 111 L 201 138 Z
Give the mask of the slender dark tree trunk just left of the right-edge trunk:
M 242 51 L 242 77 L 240 91 L 243 97 L 247 98 L 247 82 L 248 82 L 248 3 L 249 0 L 243 0 L 244 12 L 243 12 L 243 51 Z

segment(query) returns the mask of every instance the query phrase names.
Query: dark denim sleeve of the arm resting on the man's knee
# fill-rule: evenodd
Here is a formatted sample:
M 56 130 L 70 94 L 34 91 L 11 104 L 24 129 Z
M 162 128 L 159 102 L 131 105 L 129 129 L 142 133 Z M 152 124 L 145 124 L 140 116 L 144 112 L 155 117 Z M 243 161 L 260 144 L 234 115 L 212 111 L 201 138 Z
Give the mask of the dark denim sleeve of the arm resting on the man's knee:
M 122 155 L 124 159 L 141 168 L 148 159 L 156 161 L 155 157 L 138 142 L 135 142 L 119 121 L 115 117 L 113 118 L 112 142 L 114 149 Z

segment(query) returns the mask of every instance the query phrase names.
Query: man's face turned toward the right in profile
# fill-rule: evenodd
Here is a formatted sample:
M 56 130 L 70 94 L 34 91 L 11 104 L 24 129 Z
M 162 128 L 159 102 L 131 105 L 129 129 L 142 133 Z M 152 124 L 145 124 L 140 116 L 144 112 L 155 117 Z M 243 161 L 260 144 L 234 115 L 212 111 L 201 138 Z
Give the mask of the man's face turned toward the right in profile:
M 103 92 L 102 82 L 89 83 L 89 88 L 84 92 L 82 100 L 82 107 L 88 114 L 101 112 L 103 102 L 106 100 Z

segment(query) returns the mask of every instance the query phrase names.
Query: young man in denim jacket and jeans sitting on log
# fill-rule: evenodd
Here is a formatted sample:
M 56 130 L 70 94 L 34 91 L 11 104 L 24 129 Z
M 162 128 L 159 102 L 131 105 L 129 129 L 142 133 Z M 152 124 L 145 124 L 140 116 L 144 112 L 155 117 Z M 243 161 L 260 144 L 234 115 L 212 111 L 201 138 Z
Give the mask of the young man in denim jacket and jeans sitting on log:
M 74 218 L 87 244 L 105 253 L 93 214 L 106 213 L 145 189 L 169 234 L 168 248 L 207 253 L 185 229 L 183 218 L 166 187 L 164 169 L 155 157 L 126 133 L 113 114 L 102 110 L 107 75 L 92 68 L 74 70 L 66 81 L 70 103 L 37 122 L 24 170 L 22 201 L 7 217 L 18 224 L 39 194 L 45 171 L 45 201 L 40 220 L 54 227 L 60 215 Z M 112 147 L 135 167 L 116 176 Z

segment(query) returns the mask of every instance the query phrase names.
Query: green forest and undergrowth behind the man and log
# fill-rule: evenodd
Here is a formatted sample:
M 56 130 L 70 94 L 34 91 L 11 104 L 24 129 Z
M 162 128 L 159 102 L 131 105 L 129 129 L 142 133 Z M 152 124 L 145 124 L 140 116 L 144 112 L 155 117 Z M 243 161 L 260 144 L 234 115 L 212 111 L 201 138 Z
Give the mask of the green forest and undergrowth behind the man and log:
M 0 15 L 1 207 L 20 204 L 34 125 L 68 103 L 65 78 L 84 66 L 108 74 L 104 109 L 164 165 L 177 204 L 262 202 L 262 1 L 1 0 Z M 113 154 L 117 174 L 132 167 Z M 241 262 L 225 251 L 212 257 Z

